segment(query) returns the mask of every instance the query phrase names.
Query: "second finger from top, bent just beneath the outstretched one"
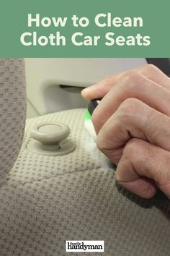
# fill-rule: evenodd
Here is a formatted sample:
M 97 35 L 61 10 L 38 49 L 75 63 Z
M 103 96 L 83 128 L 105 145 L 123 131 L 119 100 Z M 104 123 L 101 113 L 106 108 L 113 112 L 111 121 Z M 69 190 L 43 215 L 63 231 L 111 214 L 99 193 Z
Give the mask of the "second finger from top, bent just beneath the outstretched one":
M 117 82 L 117 85 L 107 93 L 95 109 L 93 120 L 96 123 L 97 132 L 127 98 L 137 98 L 170 116 L 170 90 L 148 80 L 143 75 L 131 72 L 128 76 L 124 76 L 120 82 Z

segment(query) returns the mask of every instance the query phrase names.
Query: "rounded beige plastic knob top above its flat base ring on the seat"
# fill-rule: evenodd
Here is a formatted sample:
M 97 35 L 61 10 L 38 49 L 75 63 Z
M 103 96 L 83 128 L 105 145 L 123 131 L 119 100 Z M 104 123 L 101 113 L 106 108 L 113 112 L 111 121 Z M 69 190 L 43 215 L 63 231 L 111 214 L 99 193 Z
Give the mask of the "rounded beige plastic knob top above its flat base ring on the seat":
M 43 145 L 58 145 L 70 135 L 70 128 L 61 123 L 35 124 L 30 131 L 33 139 L 40 141 Z

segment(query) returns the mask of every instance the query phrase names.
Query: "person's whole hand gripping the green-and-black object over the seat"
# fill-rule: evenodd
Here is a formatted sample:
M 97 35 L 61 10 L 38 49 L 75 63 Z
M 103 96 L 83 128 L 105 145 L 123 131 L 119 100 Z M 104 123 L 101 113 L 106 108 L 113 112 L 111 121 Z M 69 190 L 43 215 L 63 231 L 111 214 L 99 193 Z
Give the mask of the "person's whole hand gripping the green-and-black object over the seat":
M 170 198 L 170 78 L 153 65 L 105 78 L 82 91 L 102 98 L 92 119 L 97 146 L 117 163 L 117 182 L 144 198 Z

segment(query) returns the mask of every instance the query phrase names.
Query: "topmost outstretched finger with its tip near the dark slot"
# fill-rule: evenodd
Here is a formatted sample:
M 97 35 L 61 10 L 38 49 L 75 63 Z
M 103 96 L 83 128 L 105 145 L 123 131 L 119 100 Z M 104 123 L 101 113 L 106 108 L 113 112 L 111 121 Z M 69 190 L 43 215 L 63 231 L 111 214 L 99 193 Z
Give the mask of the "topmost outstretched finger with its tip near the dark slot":
M 159 85 L 163 86 L 167 90 L 170 90 L 170 79 L 164 74 L 158 67 L 147 64 L 137 69 L 133 69 L 132 71 L 126 71 L 119 74 L 114 74 L 109 77 L 106 77 L 104 80 L 98 82 L 96 85 L 92 85 L 89 88 L 86 88 L 81 91 L 81 94 L 87 100 L 91 100 L 93 98 L 103 98 L 111 88 L 115 86 L 115 84 L 125 75 L 130 74 L 130 72 L 136 72 L 138 74 L 142 74 L 147 77 L 149 80 L 153 82 L 157 82 Z

